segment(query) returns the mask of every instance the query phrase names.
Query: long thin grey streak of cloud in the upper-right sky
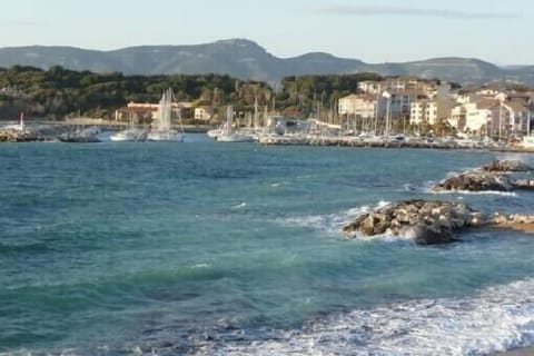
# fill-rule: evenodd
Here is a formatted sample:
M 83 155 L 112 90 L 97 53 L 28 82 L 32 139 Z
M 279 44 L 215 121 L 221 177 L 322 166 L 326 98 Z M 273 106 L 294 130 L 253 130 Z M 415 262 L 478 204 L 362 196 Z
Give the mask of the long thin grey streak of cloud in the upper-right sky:
M 307 12 L 325 14 L 350 16 L 405 16 L 435 17 L 446 19 L 514 19 L 518 13 L 512 12 L 468 12 L 445 9 L 419 9 L 402 7 L 358 7 L 358 6 L 325 6 L 308 9 Z

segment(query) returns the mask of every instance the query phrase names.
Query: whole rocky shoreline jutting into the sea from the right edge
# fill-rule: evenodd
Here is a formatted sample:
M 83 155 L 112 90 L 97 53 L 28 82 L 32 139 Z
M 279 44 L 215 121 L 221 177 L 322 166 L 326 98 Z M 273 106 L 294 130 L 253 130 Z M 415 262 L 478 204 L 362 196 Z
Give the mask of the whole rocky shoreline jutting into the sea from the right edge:
M 534 188 L 532 180 L 513 181 L 505 172 L 530 171 L 518 161 L 494 161 L 481 170 L 445 179 L 434 191 L 512 191 Z M 464 202 L 413 199 L 390 204 L 359 216 L 343 231 L 353 238 L 389 235 L 413 239 L 417 245 L 438 245 L 458 241 L 463 231 L 479 228 L 502 228 L 534 233 L 534 216 L 488 216 Z

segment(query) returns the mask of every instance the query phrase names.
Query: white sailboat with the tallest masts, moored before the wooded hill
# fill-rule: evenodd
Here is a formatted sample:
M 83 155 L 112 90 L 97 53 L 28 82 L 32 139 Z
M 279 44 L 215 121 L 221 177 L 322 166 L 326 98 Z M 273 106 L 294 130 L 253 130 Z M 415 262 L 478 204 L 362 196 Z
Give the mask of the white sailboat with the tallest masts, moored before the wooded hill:
M 167 89 L 159 100 L 158 118 L 156 127 L 148 132 L 147 139 L 149 141 L 171 141 L 184 142 L 184 128 L 181 128 L 181 119 L 179 120 L 180 130 L 171 128 L 172 118 L 172 102 L 175 95 L 172 89 Z

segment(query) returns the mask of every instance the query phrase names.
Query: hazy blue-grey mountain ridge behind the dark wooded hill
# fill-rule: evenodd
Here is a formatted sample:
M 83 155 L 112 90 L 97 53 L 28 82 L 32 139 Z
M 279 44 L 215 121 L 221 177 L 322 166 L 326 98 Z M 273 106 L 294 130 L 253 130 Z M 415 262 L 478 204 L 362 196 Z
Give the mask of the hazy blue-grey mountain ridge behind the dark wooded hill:
M 366 63 L 315 51 L 290 58 L 271 55 L 248 39 L 227 39 L 200 44 L 135 46 L 115 50 L 71 46 L 0 48 L 0 67 L 32 66 L 48 69 L 119 71 L 125 75 L 229 75 L 243 80 L 279 82 L 284 77 L 376 72 L 382 76 L 438 78 L 463 85 L 500 81 L 534 86 L 534 66 L 498 67 L 477 58 L 437 57 L 406 62 Z

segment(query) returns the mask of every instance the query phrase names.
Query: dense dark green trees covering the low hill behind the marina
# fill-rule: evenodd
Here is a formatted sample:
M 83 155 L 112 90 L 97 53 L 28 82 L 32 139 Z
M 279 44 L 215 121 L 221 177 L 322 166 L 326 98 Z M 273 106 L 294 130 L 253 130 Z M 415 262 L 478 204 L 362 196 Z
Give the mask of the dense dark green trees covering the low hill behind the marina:
M 260 110 L 271 110 L 275 106 L 279 112 L 306 117 L 335 109 L 338 98 L 355 92 L 358 81 L 368 79 L 380 77 L 373 73 L 287 77 L 281 88 L 270 88 L 265 82 L 224 75 L 123 76 L 72 71 L 59 66 L 49 70 L 14 66 L 0 69 L 0 118 L 16 118 L 21 110 L 29 117 L 111 118 L 116 109 L 129 101 L 157 102 L 168 87 L 174 89 L 178 101 L 192 101 L 196 106 L 220 109 L 234 105 L 239 112 L 251 112 L 257 102 Z

